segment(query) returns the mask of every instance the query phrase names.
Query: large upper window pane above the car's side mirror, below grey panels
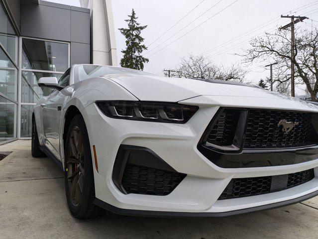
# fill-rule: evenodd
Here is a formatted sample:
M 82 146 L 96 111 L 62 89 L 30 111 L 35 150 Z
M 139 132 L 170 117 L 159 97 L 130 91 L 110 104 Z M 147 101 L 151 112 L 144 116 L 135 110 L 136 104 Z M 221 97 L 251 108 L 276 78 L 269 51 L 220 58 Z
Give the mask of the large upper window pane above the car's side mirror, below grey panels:
M 22 68 L 60 71 L 68 69 L 68 44 L 22 39 Z

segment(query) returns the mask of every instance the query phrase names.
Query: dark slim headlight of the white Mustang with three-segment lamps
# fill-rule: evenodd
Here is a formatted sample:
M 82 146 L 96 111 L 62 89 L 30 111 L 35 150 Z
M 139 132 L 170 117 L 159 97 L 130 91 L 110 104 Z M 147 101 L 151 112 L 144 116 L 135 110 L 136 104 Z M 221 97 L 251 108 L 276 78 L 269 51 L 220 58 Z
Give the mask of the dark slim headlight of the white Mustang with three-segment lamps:
M 108 117 L 169 123 L 186 123 L 198 110 L 198 106 L 177 103 L 98 101 L 101 111 Z

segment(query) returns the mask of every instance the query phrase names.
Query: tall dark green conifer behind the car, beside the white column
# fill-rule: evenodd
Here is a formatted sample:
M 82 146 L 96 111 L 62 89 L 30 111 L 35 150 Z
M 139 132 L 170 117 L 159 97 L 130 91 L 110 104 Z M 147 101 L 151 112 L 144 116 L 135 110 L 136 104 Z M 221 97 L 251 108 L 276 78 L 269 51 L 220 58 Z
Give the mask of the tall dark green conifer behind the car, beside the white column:
M 147 26 L 140 26 L 137 22 L 138 17 L 134 9 L 132 9 L 131 15 L 128 15 L 129 19 L 128 28 L 119 28 L 118 30 L 126 37 L 126 49 L 122 50 L 123 57 L 120 60 L 121 67 L 143 70 L 144 63 L 149 62 L 149 59 L 143 57 L 141 53 L 147 50 L 147 47 L 142 44 L 144 38 L 141 37 L 141 31 Z

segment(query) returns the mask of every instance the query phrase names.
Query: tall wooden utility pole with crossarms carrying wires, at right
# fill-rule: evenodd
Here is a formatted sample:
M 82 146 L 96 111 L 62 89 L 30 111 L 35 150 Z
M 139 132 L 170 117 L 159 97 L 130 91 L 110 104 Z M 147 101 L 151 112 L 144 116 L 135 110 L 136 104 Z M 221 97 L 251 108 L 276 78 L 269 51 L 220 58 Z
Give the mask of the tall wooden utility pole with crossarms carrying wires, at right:
M 305 19 L 308 19 L 307 16 L 283 16 L 281 15 L 281 17 L 285 17 L 285 18 L 291 18 L 291 23 L 288 23 L 285 26 L 280 27 L 280 30 L 284 30 L 287 29 L 288 27 L 291 27 L 291 92 L 292 92 L 292 97 L 295 97 L 295 64 L 294 64 L 294 60 L 295 60 L 295 24 L 303 21 Z M 296 18 L 296 20 L 295 20 Z

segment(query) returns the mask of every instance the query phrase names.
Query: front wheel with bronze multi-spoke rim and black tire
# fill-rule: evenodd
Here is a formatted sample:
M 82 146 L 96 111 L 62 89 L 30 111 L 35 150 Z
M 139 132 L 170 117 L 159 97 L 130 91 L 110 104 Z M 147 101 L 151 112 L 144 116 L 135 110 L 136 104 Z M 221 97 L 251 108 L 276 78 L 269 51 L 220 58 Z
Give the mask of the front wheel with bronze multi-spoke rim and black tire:
M 70 123 L 64 155 L 65 192 L 71 214 L 78 219 L 87 219 L 104 212 L 93 203 L 95 185 L 92 153 L 81 115 L 75 116 Z

